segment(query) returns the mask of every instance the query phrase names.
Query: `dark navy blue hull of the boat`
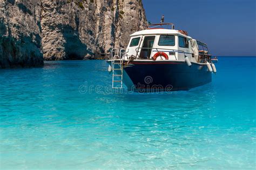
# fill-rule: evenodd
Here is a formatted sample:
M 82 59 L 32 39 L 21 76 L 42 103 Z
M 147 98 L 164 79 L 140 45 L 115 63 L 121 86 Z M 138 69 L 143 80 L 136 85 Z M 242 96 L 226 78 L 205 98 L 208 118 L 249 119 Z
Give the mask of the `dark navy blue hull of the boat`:
M 124 78 L 126 86 L 138 91 L 189 90 L 212 81 L 212 73 L 205 64 L 192 63 L 189 67 L 180 61 L 136 61 L 124 67 L 124 71 L 124 76 L 131 80 Z

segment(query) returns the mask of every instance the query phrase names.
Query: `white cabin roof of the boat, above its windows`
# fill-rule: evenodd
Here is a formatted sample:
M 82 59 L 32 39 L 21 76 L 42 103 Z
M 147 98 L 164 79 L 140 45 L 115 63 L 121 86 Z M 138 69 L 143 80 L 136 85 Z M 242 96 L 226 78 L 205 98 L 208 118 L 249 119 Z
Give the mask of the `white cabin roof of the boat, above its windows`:
M 131 35 L 131 37 L 142 36 L 142 35 L 180 35 L 180 36 L 192 39 L 190 36 L 186 36 L 180 33 L 178 30 L 171 30 L 171 29 L 147 29 L 147 30 L 134 32 Z

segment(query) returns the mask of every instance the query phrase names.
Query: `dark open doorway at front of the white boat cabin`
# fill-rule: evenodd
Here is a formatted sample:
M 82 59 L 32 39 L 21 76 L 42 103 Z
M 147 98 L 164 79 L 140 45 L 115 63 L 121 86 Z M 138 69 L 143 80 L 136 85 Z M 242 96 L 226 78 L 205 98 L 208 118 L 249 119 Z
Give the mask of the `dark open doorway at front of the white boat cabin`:
M 156 39 L 156 36 L 144 37 L 142 50 L 140 51 L 140 55 L 139 55 L 140 58 L 149 59 L 151 57 L 152 47 L 154 45 L 154 39 Z

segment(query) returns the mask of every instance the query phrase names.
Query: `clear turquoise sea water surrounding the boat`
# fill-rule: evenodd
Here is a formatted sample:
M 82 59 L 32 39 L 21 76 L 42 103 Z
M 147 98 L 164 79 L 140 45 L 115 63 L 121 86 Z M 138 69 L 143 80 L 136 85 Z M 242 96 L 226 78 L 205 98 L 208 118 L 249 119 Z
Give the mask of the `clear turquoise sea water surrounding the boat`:
M 103 60 L 0 70 L 0 169 L 255 169 L 255 61 L 171 94 L 97 89 Z

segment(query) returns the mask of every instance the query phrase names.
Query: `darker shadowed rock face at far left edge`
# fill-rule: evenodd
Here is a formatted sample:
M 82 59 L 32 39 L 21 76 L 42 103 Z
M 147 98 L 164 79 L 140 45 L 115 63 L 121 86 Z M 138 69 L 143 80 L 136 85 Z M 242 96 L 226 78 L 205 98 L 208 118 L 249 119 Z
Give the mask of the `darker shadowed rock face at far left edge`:
M 41 66 L 41 2 L 0 0 L 0 68 Z

